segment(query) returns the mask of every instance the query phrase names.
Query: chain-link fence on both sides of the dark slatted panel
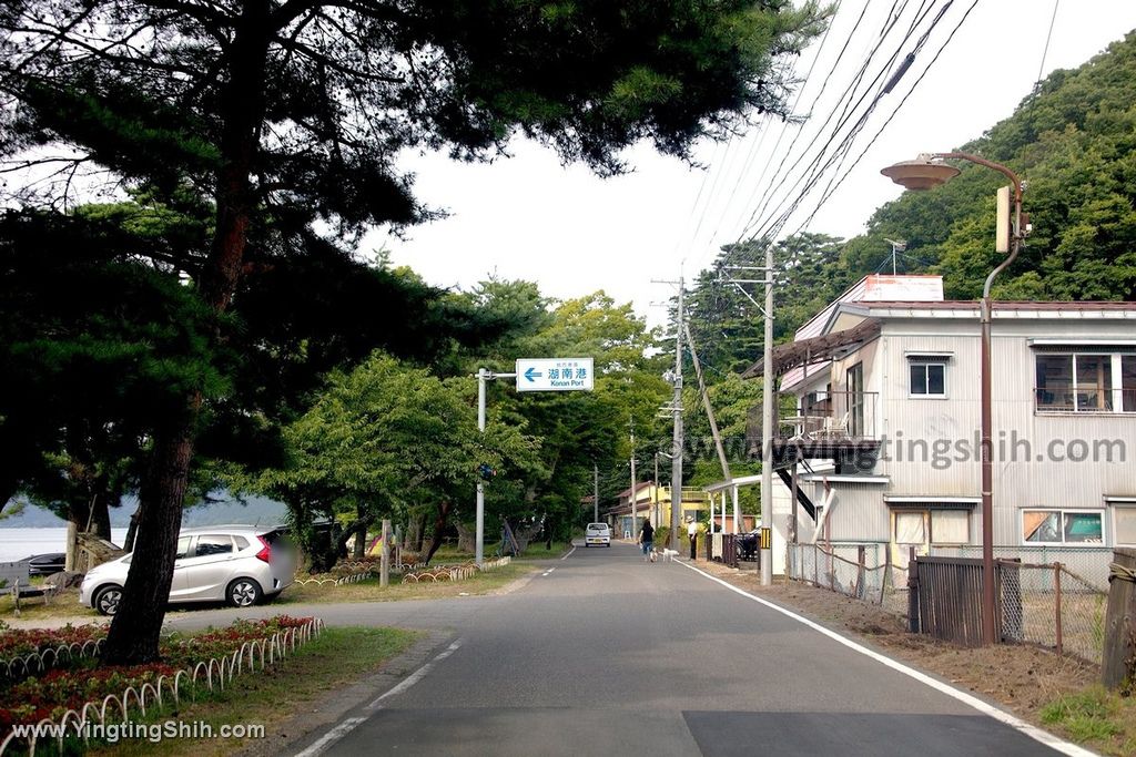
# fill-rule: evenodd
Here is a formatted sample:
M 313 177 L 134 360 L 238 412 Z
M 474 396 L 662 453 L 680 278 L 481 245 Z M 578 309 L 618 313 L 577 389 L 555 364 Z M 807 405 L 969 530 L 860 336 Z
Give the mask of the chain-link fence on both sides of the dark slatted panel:
M 970 549 L 970 548 L 968 548 Z M 980 557 L 977 554 L 951 556 Z M 1100 664 L 1104 642 L 1104 613 L 1108 592 L 1095 573 L 1081 575 L 1072 566 L 1054 561 L 1049 564 L 1017 562 L 1014 548 L 1000 548 L 1002 564 L 1000 594 L 1002 600 L 1002 639 L 1035 644 Z M 1041 549 L 1024 552 L 1042 554 Z M 1080 565 L 1093 567 L 1099 550 L 1050 550 L 1050 554 L 1075 555 Z M 1108 554 L 1108 553 L 1103 553 Z M 941 555 L 946 556 L 946 555 Z M 847 597 L 880 605 L 908 617 L 910 594 L 908 566 L 893 565 L 887 545 L 788 545 L 788 575 Z M 1104 580 L 1108 586 L 1108 580 Z M 922 629 L 932 632 L 932 629 Z

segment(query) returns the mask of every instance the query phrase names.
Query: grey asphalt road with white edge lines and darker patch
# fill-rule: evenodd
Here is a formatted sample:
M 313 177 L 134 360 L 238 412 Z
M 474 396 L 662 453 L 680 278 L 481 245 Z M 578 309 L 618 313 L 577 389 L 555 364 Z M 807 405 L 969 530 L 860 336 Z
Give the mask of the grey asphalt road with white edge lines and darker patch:
M 682 564 L 644 564 L 616 544 L 549 566 L 498 597 L 311 607 L 333 624 L 446 633 L 424 670 L 311 734 L 300 754 L 1051 752 Z M 172 621 L 202 615 L 222 620 Z

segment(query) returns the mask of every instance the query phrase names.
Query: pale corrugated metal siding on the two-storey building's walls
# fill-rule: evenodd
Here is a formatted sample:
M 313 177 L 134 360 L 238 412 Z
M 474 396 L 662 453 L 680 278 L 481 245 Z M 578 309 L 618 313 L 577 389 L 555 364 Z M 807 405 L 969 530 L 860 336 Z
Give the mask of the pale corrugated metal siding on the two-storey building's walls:
M 995 317 L 996 318 L 996 317 Z M 1055 317 L 1053 317 L 1055 318 Z M 995 319 L 992 339 L 992 394 L 994 428 L 994 535 L 996 544 L 1021 541 L 1020 510 L 1027 506 L 1100 508 L 1105 495 L 1136 494 L 1136 415 L 1037 415 L 1034 413 L 1035 350 L 1030 338 L 1131 339 L 1131 323 L 1089 319 Z M 880 430 L 888 460 L 876 472 L 891 477 L 889 494 L 963 495 L 980 494 L 982 466 L 977 453 L 966 462 L 954 460 L 953 445 L 976 444 L 980 426 L 980 342 L 978 323 L 911 319 L 885 322 L 880 344 Z M 947 399 L 909 399 L 905 352 L 953 353 L 947 365 Z M 1028 441 L 1014 445 L 1014 436 Z M 912 440 L 950 441 L 950 465 L 936 470 L 932 463 L 911 460 Z M 1124 462 L 1055 462 L 1047 459 L 1051 443 L 1066 449 L 1070 441 L 1088 444 L 1101 439 L 1124 445 Z M 897 459 L 902 444 L 904 460 Z M 942 441 L 941 441 L 942 444 Z M 934 453 L 933 447 L 928 447 Z M 1118 454 L 1114 453 L 1114 454 Z M 1011 457 L 1011 455 L 1013 455 Z M 1043 460 L 1038 460 L 1038 455 Z M 834 512 L 835 514 L 835 512 Z M 1111 518 L 1105 522 L 1105 540 L 1111 542 Z M 971 519 L 971 538 L 980 540 L 980 520 Z

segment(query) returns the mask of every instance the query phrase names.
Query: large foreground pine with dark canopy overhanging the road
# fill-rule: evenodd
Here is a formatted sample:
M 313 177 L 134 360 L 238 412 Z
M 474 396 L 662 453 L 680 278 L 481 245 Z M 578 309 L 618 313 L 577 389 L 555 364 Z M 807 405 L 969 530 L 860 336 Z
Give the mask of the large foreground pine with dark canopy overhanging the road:
M 685 154 L 738 113 L 784 112 L 776 59 L 818 26 L 816 6 L 787 1 L 17 0 L 0 11 L 0 84 L 16 102 L 0 152 L 61 143 L 127 183 L 197 187 L 216 217 L 207 256 L 184 270 L 220 313 L 257 229 L 292 239 L 317 219 L 350 233 L 425 218 L 393 168 L 403 148 L 478 158 L 520 129 L 600 171 L 642 138 Z M 149 538 L 108 663 L 157 657 L 203 399 L 190 388 L 154 430 Z

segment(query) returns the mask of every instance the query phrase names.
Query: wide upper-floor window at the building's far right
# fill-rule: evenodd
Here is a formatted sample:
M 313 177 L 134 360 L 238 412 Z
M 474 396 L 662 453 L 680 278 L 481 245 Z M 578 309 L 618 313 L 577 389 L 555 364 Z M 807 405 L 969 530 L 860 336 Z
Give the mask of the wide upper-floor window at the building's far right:
M 1136 355 L 1041 354 L 1036 368 L 1037 410 L 1136 412 Z

